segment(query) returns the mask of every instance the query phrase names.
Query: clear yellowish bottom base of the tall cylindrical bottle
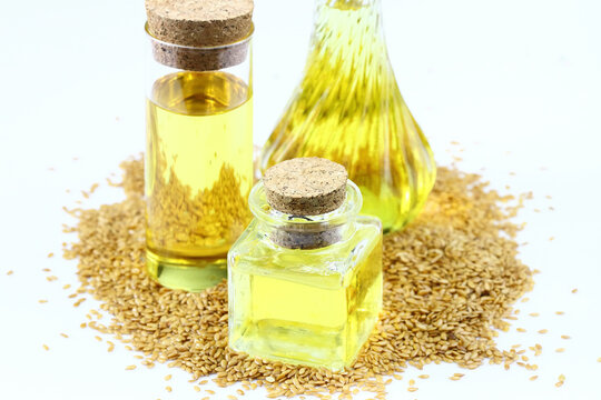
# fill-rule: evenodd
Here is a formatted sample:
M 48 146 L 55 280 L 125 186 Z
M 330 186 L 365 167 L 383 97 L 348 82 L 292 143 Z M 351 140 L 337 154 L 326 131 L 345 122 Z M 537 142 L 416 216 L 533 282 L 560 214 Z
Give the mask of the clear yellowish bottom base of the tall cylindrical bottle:
M 167 258 L 146 250 L 146 269 L 150 278 L 169 289 L 199 292 L 227 278 L 224 258 Z

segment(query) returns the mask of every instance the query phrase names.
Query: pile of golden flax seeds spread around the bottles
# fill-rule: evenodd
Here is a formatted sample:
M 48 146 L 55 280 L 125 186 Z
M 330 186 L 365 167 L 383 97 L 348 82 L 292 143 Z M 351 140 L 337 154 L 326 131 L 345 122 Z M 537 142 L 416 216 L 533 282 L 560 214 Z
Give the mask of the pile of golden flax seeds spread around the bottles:
M 500 350 L 494 338 L 509 329 L 512 304 L 533 286 L 531 270 L 518 259 L 521 227 L 512 222 L 524 196 L 500 196 L 476 174 L 439 168 L 420 217 L 384 239 L 384 308 L 376 330 L 352 368 L 331 372 L 229 350 L 225 282 L 187 293 L 148 278 L 142 161 L 121 168 L 126 200 L 71 210 L 78 239 L 65 257 L 78 259 L 79 292 L 112 316 L 108 324 L 88 327 L 142 352 L 146 367 L 167 362 L 188 371 L 193 382 L 211 376 L 220 386 L 264 387 L 269 398 L 352 399 L 371 391 L 384 399 L 386 384 L 408 364 L 473 369 L 519 358 L 514 349 Z

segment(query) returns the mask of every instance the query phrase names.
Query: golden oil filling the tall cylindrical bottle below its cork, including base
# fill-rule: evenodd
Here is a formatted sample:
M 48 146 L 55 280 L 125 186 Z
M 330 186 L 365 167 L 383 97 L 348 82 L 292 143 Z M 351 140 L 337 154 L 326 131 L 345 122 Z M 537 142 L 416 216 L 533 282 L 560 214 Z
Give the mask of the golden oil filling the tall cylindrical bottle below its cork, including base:
M 147 267 L 161 284 L 198 291 L 227 276 L 250 220 L 252 91 L 226 72 L 177 72 L 147 100 Z

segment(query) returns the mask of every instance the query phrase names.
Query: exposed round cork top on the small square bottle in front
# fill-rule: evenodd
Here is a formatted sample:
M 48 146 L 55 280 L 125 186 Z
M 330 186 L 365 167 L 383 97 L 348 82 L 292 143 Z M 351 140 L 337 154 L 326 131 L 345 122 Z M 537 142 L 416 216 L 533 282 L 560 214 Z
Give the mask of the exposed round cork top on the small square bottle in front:
M 311 157 L 280 162 L 265 172 L 263 184 L 269 204 L 293 216 L 334 211 L 345 200 L 346 169 L 326 159 Z

